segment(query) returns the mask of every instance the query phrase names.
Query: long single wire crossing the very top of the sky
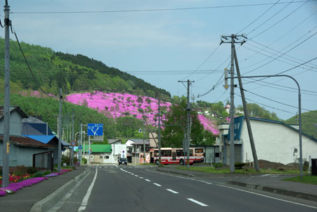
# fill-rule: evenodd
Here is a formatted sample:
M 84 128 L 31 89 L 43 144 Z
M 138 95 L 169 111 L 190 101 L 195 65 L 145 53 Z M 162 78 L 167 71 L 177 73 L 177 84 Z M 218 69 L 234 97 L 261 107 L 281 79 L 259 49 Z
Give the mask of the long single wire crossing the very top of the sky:
M 309 0 L 316 1 L 316 0 Z M 274 4 L 290 4 L 301 3 L 306 1 L 286 1 L 279 3 L 251 3 L 229 6 L 203 6 L 203 7 L 189 7 L 189 8 L 158 8 L 158 9 L 135 9 L 135 10 L 91 10 L 91 11 L 51 11 L 51 12 L 11 12 L 13 14 L 69 14 L 69 13 L 134 13 L 134 12 L 157 12 L 157 11 L 173 11 L 173 10 L 201 10 L 201 9 L 215 9 L 215 8 L 242 8 L 248 6 L 267 6 Z

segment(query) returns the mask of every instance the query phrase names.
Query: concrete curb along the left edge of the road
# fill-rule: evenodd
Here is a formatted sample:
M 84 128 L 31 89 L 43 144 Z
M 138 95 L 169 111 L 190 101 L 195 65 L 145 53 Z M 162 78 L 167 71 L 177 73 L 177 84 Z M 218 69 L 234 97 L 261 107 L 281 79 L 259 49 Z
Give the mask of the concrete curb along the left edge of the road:
M 75 179 L 71 179 L 71 181 L 68 181 L 64 185 L 62 185 L 60 188 L 52 192 L 50 195 L 45 197 L 44 199 L 40 200 L 39 202 L 36 202 L 31 210 L 29 212 L 42 212 L 42 211 L 48 211 L 54 204 L 59 202 L 59 200 L 64 197 L 64 195 L 73 188 L 73 186 L 79 181 L 82 176 L 86 176 L 89 174 L 89 169 L 82 172 L 82 174 L 75 177 Z

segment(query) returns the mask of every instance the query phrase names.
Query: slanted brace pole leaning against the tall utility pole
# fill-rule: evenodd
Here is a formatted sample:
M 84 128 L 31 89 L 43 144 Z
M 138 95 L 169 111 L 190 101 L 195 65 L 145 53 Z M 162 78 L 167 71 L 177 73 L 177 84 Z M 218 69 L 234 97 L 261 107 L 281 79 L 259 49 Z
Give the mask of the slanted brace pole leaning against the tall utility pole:
M 239 63 L 237 61 L 237 52 L 234 51 L 234 53 L 235 53 L 235 68 L 237 68 L 237 76 L 240 77 Z M 241 91 L 241 98 L 242 98 L 242 104 L 243 104 L 243 109 L 244 109 L 244 116 L 246 117 L 246 127 L 248 128 L 248 133 L 249 133 L 249 140 L 250 140 L 250 145 L 251 145 L 251 150 L 252 150 L 254 169 L 256 169 L 256 172 L 260 172 L 260 167 L 258 166 L 258 156 L 256 154 L 256 145 L 254 144 L 254 139 L 253 139 L 251 123 L 250 123 L 250 119 L 249 119 L 248 109 L 246 108 L 246 99 L 244 97 L 242 79 L 238 78 L 238 81 L 239 81 L 239 87 L 240 87 L 240 91 Z

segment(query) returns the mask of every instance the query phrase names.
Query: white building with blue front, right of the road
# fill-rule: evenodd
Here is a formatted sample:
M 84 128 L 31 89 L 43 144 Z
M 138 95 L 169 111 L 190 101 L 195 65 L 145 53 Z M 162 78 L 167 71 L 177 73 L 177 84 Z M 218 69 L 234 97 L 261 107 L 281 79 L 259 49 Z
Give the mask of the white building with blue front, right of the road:
M 258 160 L 281 162 L 284 165 L 300 160 L 300 132 L 298 126 L 291 126 L 282 121 L 250 117 L 254 144 Z M 220 161 L 230 162 L 230 129 L 229 124 L 219 126 Z M 317 139 L 302 133 L 303 162 L 317 158 Z M 251 144 L 245 116 L 235 117 L 235 162 L 253 162 Z

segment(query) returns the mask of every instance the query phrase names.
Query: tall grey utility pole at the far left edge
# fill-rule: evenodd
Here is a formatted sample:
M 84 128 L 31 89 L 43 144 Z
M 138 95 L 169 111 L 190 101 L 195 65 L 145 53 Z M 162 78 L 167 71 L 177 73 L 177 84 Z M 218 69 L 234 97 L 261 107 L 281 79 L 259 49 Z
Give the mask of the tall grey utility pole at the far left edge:
M 2 187 L 9 185 L 9 151 L 10 151 L 10 6 L 6 0 L 4 6 L 4 117 L 3 117 L 3 160 L 2 160 Z

